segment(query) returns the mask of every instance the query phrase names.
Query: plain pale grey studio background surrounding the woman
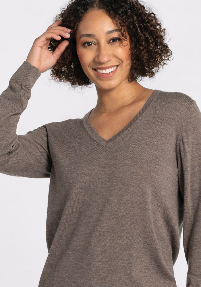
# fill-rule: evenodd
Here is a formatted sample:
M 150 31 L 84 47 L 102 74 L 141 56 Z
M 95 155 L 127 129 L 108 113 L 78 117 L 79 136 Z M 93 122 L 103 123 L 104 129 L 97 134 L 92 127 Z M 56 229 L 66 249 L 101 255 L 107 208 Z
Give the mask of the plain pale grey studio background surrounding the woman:
M 200 100 L 200 1 L 149 0 L 153 11 L 162 19 L 174 59 L 154 79 L 140 84 L 147 88 L 183 92 Z M 20 67 L 32 43 L 53 23 L 53 17 L 67 1 L 4 1 L 1 4 L 1 92 Z M 22 113 L 17 134 L 24 135 L 45 123 L 82 118 L 94 108 L 96 90 L 73 91 L 65 84 L 50 80 L 42 73 L 32 88 L 32 96 Z M 48 252 L 45 237 L 47 199 L 50 179 L 29 179 L 0 174 L 1 210 L 1 286 L 37 287 Z M 186 286 L 187 262 L 183 251 L 174 265 L 178 287 Z M 201 246 L 200 246 L 201 248 Z M 161 286 L 162 287 L 162 286 Z

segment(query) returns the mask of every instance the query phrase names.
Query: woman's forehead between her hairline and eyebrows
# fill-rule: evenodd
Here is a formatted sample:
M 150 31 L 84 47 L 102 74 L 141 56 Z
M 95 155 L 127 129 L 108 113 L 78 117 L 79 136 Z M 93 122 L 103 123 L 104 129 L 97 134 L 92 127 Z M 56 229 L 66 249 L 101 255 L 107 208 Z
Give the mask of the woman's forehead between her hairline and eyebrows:
M 100 33 L 116 28 L 119 28 L 119 26 L 113 23 L 113 20 L 105 11 L 89 10 L 82 17 L 82 20 L 76 29 L 76 35 L 80 35 L 82 33 L 94 34 L 95 31 Z

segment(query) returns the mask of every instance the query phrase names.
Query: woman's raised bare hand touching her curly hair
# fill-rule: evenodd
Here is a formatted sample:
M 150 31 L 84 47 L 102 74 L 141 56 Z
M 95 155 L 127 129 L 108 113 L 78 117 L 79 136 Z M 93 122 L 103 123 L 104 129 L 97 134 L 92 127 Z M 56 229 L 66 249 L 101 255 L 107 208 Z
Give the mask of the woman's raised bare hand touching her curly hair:
M 61 23 L 62 19 L 57 20 L 47 28 L 45 33 L 36 38 L 26 58 L 26 61 L 29 62 L 32 66 L 35 66 L 40 71 L 40 73 L 49 70 L 53 65 L 55 65 L 69 44 L 67 40 L 64 40 L 59 43 L 53 53 L 51 53 L 48 49 L 51 38 L 60 40 L 61 37 L 59 35 L 63 36 L 64 38 L 70 37 L 69 33 L 71 30 L 66 27 L 59 26 Z

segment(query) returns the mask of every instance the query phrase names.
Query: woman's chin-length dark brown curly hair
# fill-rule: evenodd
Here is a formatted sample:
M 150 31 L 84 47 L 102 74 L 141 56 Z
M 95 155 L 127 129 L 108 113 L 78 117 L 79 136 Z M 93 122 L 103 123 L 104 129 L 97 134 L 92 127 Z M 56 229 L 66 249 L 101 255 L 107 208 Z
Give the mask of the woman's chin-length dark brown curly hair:
M 141 81 L 142 77 L 154 77 L 159 68 L 166 65 L 172 56 L 166 40 L 165 28 L 156 15 L 138 0 L 70 0 L 67 7 L 55 16 L 62 19 L 60 26 L 71 29 L 69 45 L 57 63 L 51 67 L 51 77 L 58 82 L 69 82 L 71 86 L 88 86 L 91 80 L 84 73 L 76 52 L 76 29 L 84 13 L 89 9 L 102 10 L 121 27 L 121 41 L 130 37 L 131 68 L 129 82 Z M 49 50 L 53 52 L 58 44 L 66 40 L 51 39 Z

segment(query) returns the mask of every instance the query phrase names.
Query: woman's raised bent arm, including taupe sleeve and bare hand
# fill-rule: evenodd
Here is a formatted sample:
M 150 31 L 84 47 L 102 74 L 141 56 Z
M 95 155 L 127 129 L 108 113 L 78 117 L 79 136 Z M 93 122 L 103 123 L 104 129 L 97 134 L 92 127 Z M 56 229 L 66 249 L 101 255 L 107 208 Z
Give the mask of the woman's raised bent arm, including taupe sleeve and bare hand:
M 68 41 L 64 40 L 53 53 L 48 50 L 51 38 L 59 39 L 58 35 L 69 38 L 66 32 L 70 30 L 58 26 L 61 22 L 58 20 L 53 23 L 34 41 L 26 61 L 13 74 L 8 88 L 0 95 L 1 173 L 31 178 L 50 177 L 52 160 L 46 125 L 29 131 L 26 135 L 17 135 L 16 129 L 20 115 L 27 107 L 34 83 L 41 73 L 57 62 L 68 45 Z

